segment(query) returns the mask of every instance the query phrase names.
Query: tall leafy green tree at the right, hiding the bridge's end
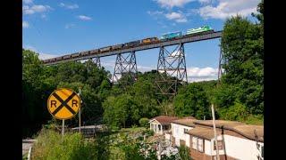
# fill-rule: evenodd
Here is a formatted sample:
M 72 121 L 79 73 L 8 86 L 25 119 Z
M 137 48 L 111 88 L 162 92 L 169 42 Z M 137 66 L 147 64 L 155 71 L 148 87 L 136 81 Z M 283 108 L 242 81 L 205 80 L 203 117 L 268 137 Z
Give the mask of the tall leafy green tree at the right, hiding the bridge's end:
M 240 15 L 226 20 L 223 28 L 222 85 L 215 92 L 214 101 L 219 108 L 231 108 L 235 101 L 247 108 L 249 114 L 264 112 L 264 4 L 258 4 L 253 14 L 260 23 L 253 24 Z

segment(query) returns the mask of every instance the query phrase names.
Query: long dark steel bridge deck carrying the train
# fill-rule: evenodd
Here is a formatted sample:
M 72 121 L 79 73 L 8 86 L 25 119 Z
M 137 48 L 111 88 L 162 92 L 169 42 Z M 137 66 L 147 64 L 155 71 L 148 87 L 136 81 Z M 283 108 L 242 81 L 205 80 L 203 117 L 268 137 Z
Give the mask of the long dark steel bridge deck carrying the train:
M 159 42 L 156 44 L 144 44 L 144 45 L 135 46 L 132 48 L 122 49 L 122 50 L 117 50 L 117 51 L 103 52 L 103 53 L 97 53 L 97 54 L 91 54 L 91 55 L 80 55 L 80 57 L 70 58 L 67 60 L 55 60 L 54 62 L 47 62 L 45 63 L 45 65 L 54 65 L 57 63 L 65 62 L 65 61 L 88 60 L 91 58 L 112 56 L 118 53 L 125 53 L 125 52 L 138 52 L 142 50 L 149 50 L 149 49 L 159 48 L 161 46 L 170 46 L 170 45 L 175 45 L 175 44 L 180 44 L 180 43 L 187 44 L 187 43 L 192 43 L 192 42 L 197 42 L 197 41 L 204 41 L 208 39 L 219 38 L 219 37 L 222 37 L 222 34 L 223 34 L 223 31 L 216 31 L 213 33 L 206 33 L 206 34 L 202 34 L 198 36 L 182 36 L 181 38 L 171 39 L 171 40 Z

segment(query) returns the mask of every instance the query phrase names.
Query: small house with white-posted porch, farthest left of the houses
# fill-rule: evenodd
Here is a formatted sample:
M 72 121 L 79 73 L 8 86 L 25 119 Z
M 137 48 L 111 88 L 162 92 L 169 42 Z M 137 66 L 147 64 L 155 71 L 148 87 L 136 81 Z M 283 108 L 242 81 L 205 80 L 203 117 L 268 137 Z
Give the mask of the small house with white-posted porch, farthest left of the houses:
M 176 120 L 175 116 L 156 116 L 149 121 L 150 130 L 155 133 L 164 134 L 170 132 L 172 120 Z

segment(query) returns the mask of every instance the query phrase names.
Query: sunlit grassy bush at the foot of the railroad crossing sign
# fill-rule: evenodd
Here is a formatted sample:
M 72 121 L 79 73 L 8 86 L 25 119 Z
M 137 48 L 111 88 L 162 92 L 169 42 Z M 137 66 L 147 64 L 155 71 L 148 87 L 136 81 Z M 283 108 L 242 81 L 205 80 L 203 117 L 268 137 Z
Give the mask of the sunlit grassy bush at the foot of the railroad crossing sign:
M 102 143 L 86 141 L 78 132 L 67 132 L 62 137 L 58 132 L 43 129 L 37 140 L 32 159 L 108 159 Z

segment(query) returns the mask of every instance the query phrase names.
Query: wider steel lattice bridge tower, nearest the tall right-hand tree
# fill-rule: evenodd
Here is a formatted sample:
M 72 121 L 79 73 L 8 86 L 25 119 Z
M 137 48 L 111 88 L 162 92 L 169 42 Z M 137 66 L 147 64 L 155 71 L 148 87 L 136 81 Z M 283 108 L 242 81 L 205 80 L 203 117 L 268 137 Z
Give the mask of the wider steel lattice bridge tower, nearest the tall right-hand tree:
M 160 47 L 157 72 L 158 94 L 173 98 L 178 92 L 178 85 L 188 83 L 184 44 L 178 44 L 172 52 L 164 46 Z

